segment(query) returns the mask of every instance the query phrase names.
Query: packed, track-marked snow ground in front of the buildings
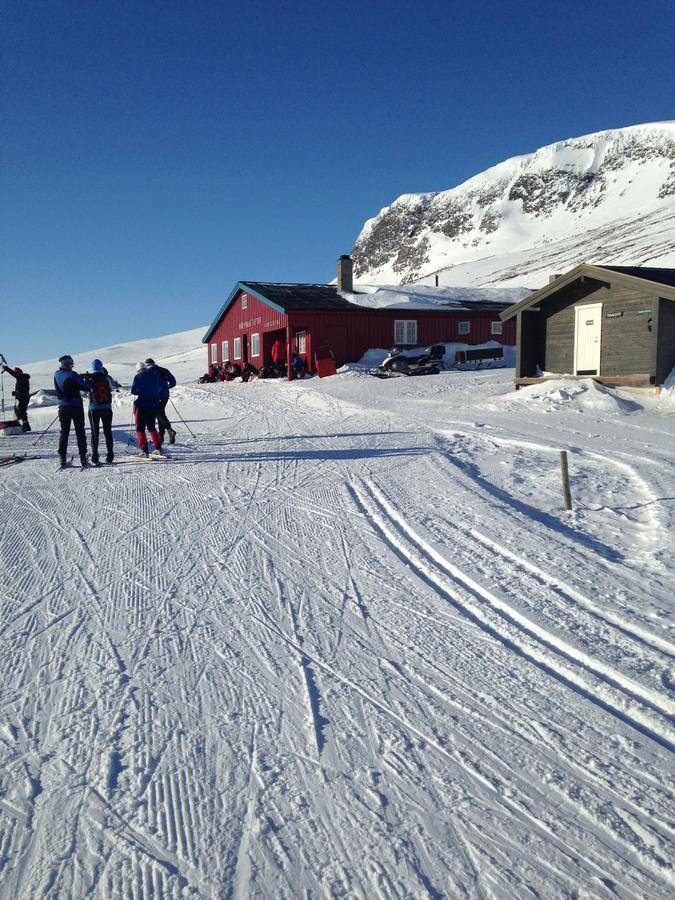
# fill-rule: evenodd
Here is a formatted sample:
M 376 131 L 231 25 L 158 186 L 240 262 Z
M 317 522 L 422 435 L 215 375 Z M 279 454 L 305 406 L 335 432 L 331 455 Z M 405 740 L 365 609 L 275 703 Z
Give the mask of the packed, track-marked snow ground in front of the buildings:
M 672 897 L 675 385 L 163 342 L 170 459 L 0 439 L 0 896 Z

